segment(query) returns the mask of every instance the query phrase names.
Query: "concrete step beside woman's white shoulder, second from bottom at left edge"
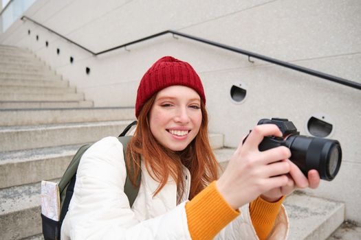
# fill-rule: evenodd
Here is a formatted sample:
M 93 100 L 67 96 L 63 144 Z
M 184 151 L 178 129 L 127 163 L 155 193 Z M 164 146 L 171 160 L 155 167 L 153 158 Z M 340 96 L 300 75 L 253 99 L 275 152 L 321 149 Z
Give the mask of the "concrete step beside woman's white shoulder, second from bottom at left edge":
M 124 128 L 118 128 L 109 136 L 119 136 Z M 213 139 L 217 136 L 223 138 L 221 134 L 210 134 L 210 138 Z M 89 142 L 95 142 L 99 139 Z M 0 189 L 61 178 L 80 145 L 0 152 Z M 211 146 L 212 148 L 218 147 L 217 145 Z

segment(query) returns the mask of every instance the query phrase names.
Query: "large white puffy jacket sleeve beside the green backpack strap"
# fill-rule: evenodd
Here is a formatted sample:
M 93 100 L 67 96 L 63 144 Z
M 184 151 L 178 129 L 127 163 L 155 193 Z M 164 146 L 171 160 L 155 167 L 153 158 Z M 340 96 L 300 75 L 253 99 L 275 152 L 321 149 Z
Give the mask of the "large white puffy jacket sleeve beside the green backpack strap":
M 190 239 L 185 204 L 140 221 L 124 193 L 122 144 L 115 137 L 94 143 L 80 160 L 61 239 Z

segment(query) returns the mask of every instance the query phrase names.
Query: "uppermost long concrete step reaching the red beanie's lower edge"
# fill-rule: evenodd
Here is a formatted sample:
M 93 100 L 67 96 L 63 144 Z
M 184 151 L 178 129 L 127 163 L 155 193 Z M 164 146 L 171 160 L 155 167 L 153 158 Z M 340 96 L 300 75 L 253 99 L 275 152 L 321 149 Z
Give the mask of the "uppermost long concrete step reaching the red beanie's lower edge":
M 0 126 L 135 119 L 134 108 L 34 108 L 0 110 Z

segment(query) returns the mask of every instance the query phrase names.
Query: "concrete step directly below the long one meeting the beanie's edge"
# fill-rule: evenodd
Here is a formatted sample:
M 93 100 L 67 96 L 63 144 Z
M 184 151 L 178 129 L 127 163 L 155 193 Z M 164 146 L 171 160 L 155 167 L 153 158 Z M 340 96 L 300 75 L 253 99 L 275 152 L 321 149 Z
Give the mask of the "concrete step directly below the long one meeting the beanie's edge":
M 89 143 L 118 136 L 131 121 L 0 127 L 0 152 Z

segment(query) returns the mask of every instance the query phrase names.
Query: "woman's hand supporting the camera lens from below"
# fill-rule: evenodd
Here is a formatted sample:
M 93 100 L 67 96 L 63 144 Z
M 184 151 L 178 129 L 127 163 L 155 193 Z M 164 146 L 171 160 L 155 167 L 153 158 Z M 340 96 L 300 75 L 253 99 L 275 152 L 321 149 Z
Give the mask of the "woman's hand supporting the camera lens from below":
M 315 169 L 308 172 L 308 178 L 303 175 L 302 171 L 291 160 L 284 160 L 289 163 L 289 174 L 287 174 L 288 182 L 283 187 L 271 189 L 261 195 L 263 200 L 267 202 L 276 202 L 283 195 L 288 195 L 296 189 L 305 189 L 307 187 L 316 189 L 320 184 L 320 175 Z

